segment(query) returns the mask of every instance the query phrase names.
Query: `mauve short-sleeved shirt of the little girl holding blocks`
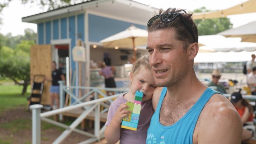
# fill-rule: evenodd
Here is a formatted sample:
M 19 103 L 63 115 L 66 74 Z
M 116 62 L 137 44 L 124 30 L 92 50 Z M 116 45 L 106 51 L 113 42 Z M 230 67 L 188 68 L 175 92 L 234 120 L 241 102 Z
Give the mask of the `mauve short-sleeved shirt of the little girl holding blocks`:
M 120 104 L 127 102 L 123 98 L 123 95 L 117 97 L 117 99 L 110 105 L 108 110 L 106 125 L 109 126 L 110 122 L 115 115 Z M 150 119 L 154 113 L 152 106 L 152 100 L 144 101 L 141 103 L 141 111 L 139 115 L 139 123 L 137 131 L 121 128 L 120 144 L 144 144 L 146 143 L 147 130 L 150 124 Z M 120 124 L 121 127 L 121 124 Z

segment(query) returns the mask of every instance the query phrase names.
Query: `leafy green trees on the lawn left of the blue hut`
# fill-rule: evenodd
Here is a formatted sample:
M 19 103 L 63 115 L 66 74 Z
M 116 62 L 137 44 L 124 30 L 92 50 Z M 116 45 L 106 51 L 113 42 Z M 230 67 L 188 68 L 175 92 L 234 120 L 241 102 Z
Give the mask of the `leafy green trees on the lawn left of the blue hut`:
M 22 94 L 26 93 L 30 84 L 30 47 L 35 44 L 33 37 L 36 33 L 30 29 L 25 30 L 25 35 L 15 37 L 0 34 L 3 40 L 0 43 L 0 74 L 22 85 Z

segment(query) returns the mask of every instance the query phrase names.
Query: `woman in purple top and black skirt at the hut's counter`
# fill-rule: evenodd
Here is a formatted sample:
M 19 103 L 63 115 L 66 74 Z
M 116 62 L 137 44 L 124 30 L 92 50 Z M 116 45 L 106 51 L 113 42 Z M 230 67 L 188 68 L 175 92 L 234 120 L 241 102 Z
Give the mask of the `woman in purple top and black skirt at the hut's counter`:
M 116 88 L 116 83 L 114 79 L 114 72 L 116 71 L 115 67 L 107 66 L 105 62 L 100 64 L 101 71 L 99 71 L 100 75 L 103 75 L 105 78 L 105 87 L 106 88 Z M 112 92 L 114 95 L 115 92 Z M 107 91 L 107 95 L 110 95 L 110 92 Z

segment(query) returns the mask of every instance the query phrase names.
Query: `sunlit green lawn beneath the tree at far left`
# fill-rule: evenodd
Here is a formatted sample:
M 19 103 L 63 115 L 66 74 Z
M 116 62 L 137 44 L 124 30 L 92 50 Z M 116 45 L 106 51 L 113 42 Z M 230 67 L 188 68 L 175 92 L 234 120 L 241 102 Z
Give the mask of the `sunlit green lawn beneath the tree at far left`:
M 0 85 L 0 113 L 27 105 L 27 96 L 29 94 L 21 95 L 22 88 L 22 86 L 18 85 Z M 30 90 L 29 86 L 27 92 L 30 92 Z

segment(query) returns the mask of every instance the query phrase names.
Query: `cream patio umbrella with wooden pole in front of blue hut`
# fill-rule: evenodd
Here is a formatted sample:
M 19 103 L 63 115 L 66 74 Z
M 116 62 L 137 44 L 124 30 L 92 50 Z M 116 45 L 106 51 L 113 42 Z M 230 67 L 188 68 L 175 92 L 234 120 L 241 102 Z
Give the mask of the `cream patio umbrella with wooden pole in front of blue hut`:
M 135 26 L 127 28 L 101 41 L 105 48 L 133 48 L 133 58 L 136 60 L 135 47 L 147 44 L 148 32 Z

